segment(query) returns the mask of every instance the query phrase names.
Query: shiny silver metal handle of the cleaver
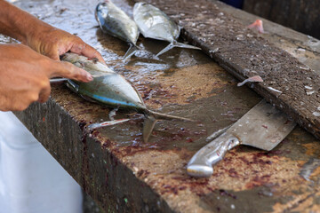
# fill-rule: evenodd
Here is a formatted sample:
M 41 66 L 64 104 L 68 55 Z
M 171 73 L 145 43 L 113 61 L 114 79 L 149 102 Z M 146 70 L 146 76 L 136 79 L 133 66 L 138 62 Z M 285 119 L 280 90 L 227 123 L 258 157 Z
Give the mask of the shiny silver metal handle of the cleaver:
M 239 145 L 239 140 L 228 132 L 202 147 L 188 162 L 187 173 L 192 177 L 210 177 L 212 165 L 220 162 L 231 148 Z

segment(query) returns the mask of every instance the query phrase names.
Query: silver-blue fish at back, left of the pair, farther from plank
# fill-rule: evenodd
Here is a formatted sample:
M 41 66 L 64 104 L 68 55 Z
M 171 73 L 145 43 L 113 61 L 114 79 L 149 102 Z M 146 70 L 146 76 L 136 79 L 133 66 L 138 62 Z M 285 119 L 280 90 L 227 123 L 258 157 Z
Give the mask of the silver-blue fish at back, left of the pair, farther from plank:
M 130 44 L 129 50 L 124 54 L 124 59 L 129 59 L 140 49 L 136 44 L 140 34 L 137 24 L 110 0 L 97 5 L 95 18 L 104 33 Z

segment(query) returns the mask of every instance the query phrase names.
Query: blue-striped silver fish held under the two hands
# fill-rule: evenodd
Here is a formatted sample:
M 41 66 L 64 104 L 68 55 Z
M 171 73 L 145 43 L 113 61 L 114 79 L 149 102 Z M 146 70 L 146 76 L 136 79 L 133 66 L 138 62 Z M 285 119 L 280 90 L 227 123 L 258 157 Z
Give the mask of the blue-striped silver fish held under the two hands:
M 80 94 L 84 99 L 103 105 L 134 109 L 138 113 L 144 114 L 146 119 L 143 123 L 142 134 L 145 142 L 148 141 L 157 120 L 192 121 L 187 118 L 149 110 L 141 99 L 139 92 L 131 83 L 125 80 L 123 75 L 117 74 L 97 60 L 75 53 L 66 53 L 61 59 L 76 65 L 76 67 L 84 68 L 94 76 L 93 81 L 90 83 L 68 80 L 68 87 Z

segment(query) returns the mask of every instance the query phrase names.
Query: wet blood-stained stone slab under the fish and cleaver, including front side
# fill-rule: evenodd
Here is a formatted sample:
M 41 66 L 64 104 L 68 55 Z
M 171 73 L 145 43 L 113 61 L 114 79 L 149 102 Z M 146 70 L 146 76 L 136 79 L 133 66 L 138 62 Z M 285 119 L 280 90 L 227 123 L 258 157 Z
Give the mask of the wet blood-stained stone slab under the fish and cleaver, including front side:
M 114 3 L 131 15 L 131 2 Z M 97 28 L 98 1 L 15 4 L 91 44 L 133 83 L 149 108 L 196 121 L 157 122 L 143 143 L 142 114 L 119 110 L 116 118 L 132 120 L 87 132 L 86 125 L 108 121 L 111 108 L 78 97 L 62 83 L 52 85 L 46 104 L 17 113 L 106 212 L 256 212 L 252 200 L 266 212 L 319 208 L 320 144 L 300 127 L 270 152 L 238 146 L 214 167 L 212 177 L 188 177 L 188 160 L 207 143 L 205 138 L 261 99 L 248 87 L 237 87 L 236 78 L 202 51 L 172 49 L 156 58 L 167 43 L 140 36 L 142 50 L 123 61 L 127 43 Z

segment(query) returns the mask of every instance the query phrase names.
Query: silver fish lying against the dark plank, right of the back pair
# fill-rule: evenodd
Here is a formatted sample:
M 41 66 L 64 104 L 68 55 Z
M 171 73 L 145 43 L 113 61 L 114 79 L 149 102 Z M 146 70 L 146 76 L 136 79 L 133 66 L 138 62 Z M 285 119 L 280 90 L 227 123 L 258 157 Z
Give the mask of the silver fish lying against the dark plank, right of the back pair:
M 177 42 L 180 36 L 180 27 L 164 12 L 147 3 L 136 3 L 133 7 L 133 20 L 143 36 L 167 41 L 170 44 L 156 54 L 159 56 L 173 47 L 201 50 L 201 48 Z

